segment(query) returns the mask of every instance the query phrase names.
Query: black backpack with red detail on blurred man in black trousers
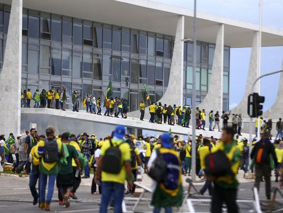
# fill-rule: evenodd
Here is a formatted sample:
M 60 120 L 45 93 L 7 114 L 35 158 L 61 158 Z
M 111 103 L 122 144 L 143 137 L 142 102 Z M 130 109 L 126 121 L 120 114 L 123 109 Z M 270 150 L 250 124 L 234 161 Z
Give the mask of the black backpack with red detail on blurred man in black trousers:
M 212 175 L 215 177 L 233 174 L 229 159 L 226 157 L 224 152 L 220 150 L 205 157 L 204 172 L 206 175 Z

